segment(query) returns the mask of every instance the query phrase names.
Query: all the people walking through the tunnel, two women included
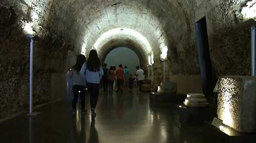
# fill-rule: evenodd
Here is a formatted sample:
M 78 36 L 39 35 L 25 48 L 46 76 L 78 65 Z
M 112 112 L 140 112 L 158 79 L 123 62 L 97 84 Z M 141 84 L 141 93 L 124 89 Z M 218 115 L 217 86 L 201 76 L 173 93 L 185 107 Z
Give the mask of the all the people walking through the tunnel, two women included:
M 115 66 L 111 66 L 110 69 L 106 68 L 106 64 L 103 68 L 100 64 L 96 50 L 91 50 L 89 58 L 86 61 L 86 57 L 79 54 L 76 59 L 76 64 L 68 70 L 67 78 L 69 83 L 72 83 L 72 90 L 74 98 L 72 101 L 73 113 L 76 113 L 76 105 L 78 98 L 81 100 L 81 112 L 86 113 L 86 88 L 89 90 L 91 95 L 91 114 L 92 118 L 96 117 L 95 108 L 98 102 L 100 81 L 102 79 L 104 92 L 109 91 L 113 93 L 114 85 L 116 85 L 116 92 L 123 91 L 125 83 L 129 84 L 130 92 L 133 89 L 133 83 L 136 80 L 141 92 L 142 84 L 144 81 L 144 71 L 139 66 L 136 67 L 137 72 L 135 76 L 129 74 L 127 66 L 124 67 L 120 64 L 116 70 Z M 72 81 L 71 81 L 72 80 Z

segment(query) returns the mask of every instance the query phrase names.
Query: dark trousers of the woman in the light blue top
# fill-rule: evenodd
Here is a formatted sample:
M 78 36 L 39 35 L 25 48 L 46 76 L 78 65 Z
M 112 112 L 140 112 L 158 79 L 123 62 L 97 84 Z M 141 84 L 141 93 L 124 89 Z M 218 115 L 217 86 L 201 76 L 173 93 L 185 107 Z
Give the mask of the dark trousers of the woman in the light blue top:
M 91 102 L 91 109 L 96 108 L 98 97 L 99 97 L 99 84 L 98 83 L 90 83 L 87 82 L 87 88 L 91 95 L 90 102 Z

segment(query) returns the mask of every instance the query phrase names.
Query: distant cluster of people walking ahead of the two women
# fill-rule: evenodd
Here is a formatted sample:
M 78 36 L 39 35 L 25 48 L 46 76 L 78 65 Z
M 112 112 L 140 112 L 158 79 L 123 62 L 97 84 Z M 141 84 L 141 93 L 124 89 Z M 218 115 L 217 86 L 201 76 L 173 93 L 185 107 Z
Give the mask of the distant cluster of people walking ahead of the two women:
M 133 90 L 134 81 L 137 81 L 139 86 L 139 91 L 141 92 L 142 84 L 144 81 L 144 71 L 140 69 L 139 66 L 136 67 L 137 72 L 136 74 L 130 74 L 129 69 L 127 66 L 120 64 L 118 69 L 115 66 L 110 66 L 110 69 L 106 68 L 107 64 L 103 65 L 103 89 L 104 92 L 109 92 L 109 94 L 113 93 L 115 90 L 116 92 L 123 91 L 123 87 L 129 87 L 129 92 L 131 93 Z

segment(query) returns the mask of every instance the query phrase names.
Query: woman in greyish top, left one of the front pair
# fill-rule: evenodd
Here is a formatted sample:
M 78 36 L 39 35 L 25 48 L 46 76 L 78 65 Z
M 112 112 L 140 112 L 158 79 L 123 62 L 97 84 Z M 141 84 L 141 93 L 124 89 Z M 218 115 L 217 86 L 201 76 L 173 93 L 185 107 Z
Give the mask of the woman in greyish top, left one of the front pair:
M 76 104 L 79 97 L 80 91 L 80 100 L 81 100 L 81 112 L 86 112 L 86 79 L 80 74 L 81 67 L 83 63 L 86 62 L 86 57 L 82 54 L 79 54 L 76 59 L 76 64 L 73 66 L 70 72 L 70 77 L 73 78 L 73 93 L 74 99 L 72 102 L 73 113 L 76 113 Z

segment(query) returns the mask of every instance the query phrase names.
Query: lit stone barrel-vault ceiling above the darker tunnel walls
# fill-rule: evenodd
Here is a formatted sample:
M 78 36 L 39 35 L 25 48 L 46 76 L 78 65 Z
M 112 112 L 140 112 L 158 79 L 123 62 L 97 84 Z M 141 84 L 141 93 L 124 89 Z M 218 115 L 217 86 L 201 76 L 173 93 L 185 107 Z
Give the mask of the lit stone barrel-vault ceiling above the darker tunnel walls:
M 97 49 L 102 57 L 115 46 L 130 45 L 136 47 L 148 63 L 153 55 L 160 61 L 160 55 L 167 56 L 168 50 L 177 49 L 179 58 L 187 58 L 183 50 L 195 48 L 194 22 L 207 15 L 207 9 L 220 11 L 208 15 L 217 25 L 229 26 L 232 19 L 225 11 L 233 11 L 242 21 L 255 18 L 256 0 L 245 1 L 170 1 L 170 0 L 7 0 L 0 4 L 16 8 L 25 17 L 21 19 L 24 28 L 29 27 L 37 35 L 53 32 L 75 45 L 75 52 L 88 54 Z M 224 9 L 222 8 L 224 7 Z M 219 17 L 223 15 L 224 18 Z M 229 16 L 228 16 L 229 15 Z M 226 16 L 226 17 L 225 17 Z M 223 23 L 218 21 L 223 20 Z M 242 22 L 240 21 L 240 22 Z M 231 23 L 234 24 L 234 23 Z M 210 24 L 212 26 L 214 24 Z M 221 27 L 220 27 L 221 28 Z M 211 29 L 209 33 L 212 33 Z M 109 41 L 119 41 L 119 45 Z M 123 41 L 123 43 L 121 42 Z M 112 45 L 108 45 L 112 44 Z M 106 45 L 107 44 L 107 45 Z M 196 52 L 188 52 L 197 55 Z M 152 56 L 152 57 L 153 57 Z M 172 56 L 172 55 L 171 55 Z M 177 55 L 174 55 L 177 56 Z M 190 60 L 197 63 L 197 60 Z M 195 67 L 195 64 L 188 64 Z

